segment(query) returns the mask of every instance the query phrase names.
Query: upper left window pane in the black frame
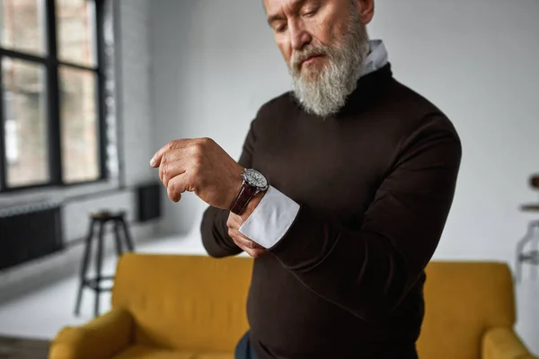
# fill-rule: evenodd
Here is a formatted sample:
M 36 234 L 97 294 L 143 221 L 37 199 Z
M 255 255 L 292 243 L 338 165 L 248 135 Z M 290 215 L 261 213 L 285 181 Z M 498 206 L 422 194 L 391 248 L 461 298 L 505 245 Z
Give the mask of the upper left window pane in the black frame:
M 0 0 L 2 47 L 43 55 L 45 52 L 44 0 Z

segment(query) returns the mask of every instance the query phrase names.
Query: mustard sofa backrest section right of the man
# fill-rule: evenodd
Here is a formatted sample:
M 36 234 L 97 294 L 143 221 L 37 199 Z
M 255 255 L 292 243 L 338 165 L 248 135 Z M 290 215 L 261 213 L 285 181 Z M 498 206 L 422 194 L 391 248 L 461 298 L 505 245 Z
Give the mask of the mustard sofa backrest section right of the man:
M 514 289 L 506 264 L 433 261 L 426 273 L 420 358 L 479 359 L 487 328 L 513 327 Z

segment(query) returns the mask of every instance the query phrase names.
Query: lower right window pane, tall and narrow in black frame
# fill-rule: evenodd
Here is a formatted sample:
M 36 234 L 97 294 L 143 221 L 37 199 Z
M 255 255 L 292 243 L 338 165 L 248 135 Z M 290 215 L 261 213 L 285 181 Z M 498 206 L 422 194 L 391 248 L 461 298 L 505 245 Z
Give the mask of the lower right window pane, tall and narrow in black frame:
M 62 66 L 59 75 L 64 181 L 97 180 L 100 163 L 95 74 Z

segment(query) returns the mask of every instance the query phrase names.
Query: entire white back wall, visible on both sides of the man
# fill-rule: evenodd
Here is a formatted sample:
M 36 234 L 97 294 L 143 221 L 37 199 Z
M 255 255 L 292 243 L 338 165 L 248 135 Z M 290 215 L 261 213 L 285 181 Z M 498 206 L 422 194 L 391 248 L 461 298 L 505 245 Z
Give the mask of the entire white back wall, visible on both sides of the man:
M 539 171 L 537 14 L 536 0 L 376 2 L 369 31 L 384 39 L 396 78 L 443 109 L 464 144 L 436 258 L 512 263 L 533 217 L 517 207 L 537 199 L 527 187 Z M 261 1 L 160 0 L 151 24 L 155 147 L 210 136 L 237 158 L 256 110 L 289 83 Z M 167 200 L 166 231 L 198 231 L 203 208 L 192 196 Z M 537 286 L 519 289 L 518 329 L 539 352 Z

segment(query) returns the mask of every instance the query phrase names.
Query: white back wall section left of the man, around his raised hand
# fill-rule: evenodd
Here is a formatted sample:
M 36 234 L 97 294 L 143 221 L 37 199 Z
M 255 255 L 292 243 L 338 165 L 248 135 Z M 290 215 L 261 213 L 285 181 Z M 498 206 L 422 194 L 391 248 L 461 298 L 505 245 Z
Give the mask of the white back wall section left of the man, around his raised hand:
M 209 136 L 239 158 L 257 109 L 287 91 L 261 1 L 160 0 L 152 6 L 155 147 Z M 249 16 L 240 15 L 243 13 Z M 165 200 L 166 232 L 189 232 L 205 207 Z

